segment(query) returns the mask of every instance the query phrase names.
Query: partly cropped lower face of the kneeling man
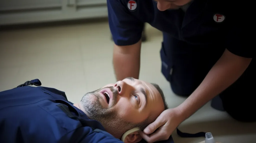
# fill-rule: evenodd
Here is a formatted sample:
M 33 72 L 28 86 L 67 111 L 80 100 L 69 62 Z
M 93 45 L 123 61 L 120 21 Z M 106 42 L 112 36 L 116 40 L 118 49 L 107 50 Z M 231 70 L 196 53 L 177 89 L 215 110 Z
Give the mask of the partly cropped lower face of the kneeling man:
M 192 0 L 155 0 L 157 2 L 157 8 L 160 11 L 168 9 L 179 9 L 180 7 L 188 4 Z

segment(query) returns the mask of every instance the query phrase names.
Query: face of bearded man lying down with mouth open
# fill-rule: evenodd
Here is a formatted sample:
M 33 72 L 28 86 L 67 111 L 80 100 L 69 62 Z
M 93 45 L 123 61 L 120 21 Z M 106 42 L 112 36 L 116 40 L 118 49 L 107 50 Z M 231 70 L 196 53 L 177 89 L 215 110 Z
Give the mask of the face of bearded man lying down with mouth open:
M 164 111 L 158 90 L 133 78 L 85 94 L 80 105 L 90 119 L 99 121 L 116 138 L 149 118 L 156 119 Z

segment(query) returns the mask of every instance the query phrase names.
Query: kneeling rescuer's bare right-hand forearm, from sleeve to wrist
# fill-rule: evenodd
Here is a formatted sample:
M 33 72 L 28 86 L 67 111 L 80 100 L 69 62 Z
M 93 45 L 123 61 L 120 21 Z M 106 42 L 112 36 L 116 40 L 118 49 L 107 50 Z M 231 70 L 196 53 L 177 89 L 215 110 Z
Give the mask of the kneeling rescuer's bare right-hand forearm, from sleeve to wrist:
M 239 57 L 226 49 L 198 88 L 177 107 L 183 114 L 183 120 L 189 118 L 208 101 L 233 84 L 247 69 L 250 62 L 250 58 Z

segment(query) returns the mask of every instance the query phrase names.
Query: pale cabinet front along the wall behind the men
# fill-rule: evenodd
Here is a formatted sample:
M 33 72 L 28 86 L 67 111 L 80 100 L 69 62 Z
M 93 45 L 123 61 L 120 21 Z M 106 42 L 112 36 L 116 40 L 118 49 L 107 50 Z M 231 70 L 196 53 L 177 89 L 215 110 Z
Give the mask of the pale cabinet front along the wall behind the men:
M 0 0 L 0 25 L 108 17 L 106 0 Z

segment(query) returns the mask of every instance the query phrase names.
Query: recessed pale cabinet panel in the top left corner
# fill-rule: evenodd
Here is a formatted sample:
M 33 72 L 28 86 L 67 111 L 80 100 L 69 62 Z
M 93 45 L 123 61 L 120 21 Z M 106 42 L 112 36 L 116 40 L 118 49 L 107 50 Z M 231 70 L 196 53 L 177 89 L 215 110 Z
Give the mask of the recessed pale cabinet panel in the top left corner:
M 0 10 L 23 10 L 61 7 L 62 0 L 0 0 Z

